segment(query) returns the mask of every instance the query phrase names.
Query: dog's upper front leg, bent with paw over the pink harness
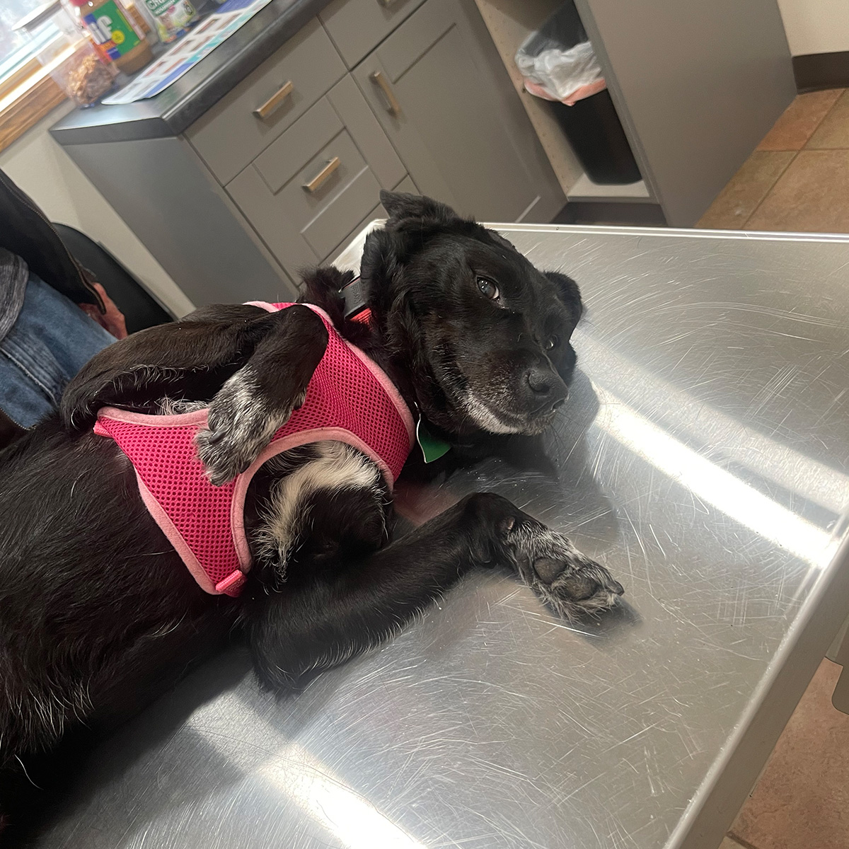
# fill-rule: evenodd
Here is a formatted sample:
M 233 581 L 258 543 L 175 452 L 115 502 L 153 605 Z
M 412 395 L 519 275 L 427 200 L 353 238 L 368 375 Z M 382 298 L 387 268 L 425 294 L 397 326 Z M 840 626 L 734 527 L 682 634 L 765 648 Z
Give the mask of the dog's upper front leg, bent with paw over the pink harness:
M 327 347 L 327 329 L 306 306 L 207 307 L 101 351 L 70 382 L 62 418 L 70 430 L 93 424 L 99 408 L 144 408 L 168 394 L 205 401 L 209 429 L 198 451 L 213 483 L 250 465 L 292 410 Z

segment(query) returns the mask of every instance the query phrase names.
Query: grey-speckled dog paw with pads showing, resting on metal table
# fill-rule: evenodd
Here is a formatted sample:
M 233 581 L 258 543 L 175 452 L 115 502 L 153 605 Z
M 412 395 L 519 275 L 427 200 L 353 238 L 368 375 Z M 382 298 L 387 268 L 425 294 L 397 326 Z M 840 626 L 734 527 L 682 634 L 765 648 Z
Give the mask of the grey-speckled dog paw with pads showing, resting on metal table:
M 531 517 L 517 521 L 506 542 L 525 582 L 566 619 L 609 610 L 625 592 L 604 566 Z

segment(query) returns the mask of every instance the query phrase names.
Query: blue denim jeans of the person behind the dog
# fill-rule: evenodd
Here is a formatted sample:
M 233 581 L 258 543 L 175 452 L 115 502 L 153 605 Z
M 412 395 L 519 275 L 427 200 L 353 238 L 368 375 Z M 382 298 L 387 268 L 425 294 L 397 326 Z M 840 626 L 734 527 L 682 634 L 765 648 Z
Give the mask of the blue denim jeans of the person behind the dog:
M 0 409 L 29 428 L 59 407 L 68 381 L 115 337 L 35 274 L 0 340 Z

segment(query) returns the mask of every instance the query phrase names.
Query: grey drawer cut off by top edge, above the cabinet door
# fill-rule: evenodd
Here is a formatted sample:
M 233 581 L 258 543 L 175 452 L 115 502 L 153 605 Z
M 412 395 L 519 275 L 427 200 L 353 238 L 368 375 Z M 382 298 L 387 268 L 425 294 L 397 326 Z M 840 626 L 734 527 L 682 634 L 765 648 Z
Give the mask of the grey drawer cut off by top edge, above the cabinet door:
M 333 0 L 318 13 L 336 48 L 353 68 L 422 4 L 422 0 Z

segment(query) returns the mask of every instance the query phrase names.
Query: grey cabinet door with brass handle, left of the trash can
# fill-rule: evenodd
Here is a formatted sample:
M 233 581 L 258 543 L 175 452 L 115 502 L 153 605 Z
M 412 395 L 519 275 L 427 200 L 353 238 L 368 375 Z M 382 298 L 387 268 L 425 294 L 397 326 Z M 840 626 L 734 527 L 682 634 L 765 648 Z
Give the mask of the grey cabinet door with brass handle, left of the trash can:
M 428 0 L 354 77 L 424 194 L 484 221 L 550 220 L 564 202 L 559 185 L 523 136 L 519 98 L 469 14 L 473 4 Z M 521 114 L 505 105 L 505 85 Z

